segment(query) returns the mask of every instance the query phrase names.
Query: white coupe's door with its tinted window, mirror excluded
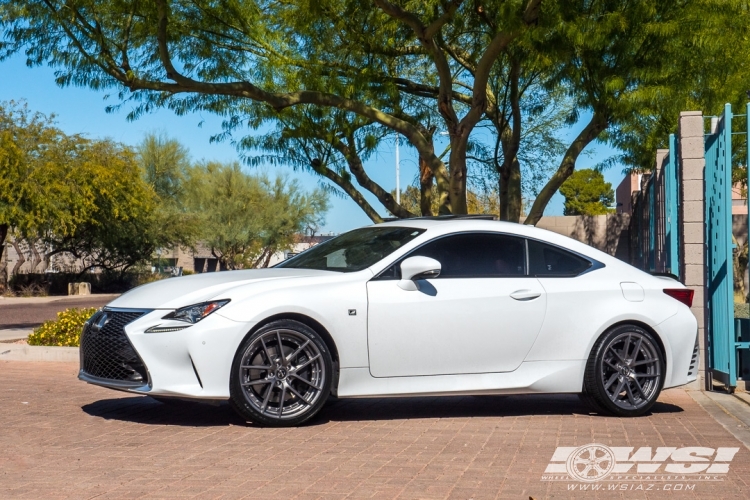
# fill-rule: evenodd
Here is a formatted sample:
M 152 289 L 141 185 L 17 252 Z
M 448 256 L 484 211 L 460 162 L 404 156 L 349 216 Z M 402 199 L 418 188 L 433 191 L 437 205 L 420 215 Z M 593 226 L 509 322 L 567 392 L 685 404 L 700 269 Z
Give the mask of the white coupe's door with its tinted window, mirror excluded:
M 544 321 L 546 295 L 527 275 L 525 240 L 460 233 L 407 257 L 440 262 L 439 277 L 403 290 L 399 263 L 367 285 L 368 348 L 374 377 L 513 371 Z

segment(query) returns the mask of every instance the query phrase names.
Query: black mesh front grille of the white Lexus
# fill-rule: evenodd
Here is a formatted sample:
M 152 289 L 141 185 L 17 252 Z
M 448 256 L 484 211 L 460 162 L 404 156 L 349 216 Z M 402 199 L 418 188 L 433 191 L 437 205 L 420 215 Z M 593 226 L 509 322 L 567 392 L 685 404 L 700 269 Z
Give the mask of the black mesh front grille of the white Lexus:
M 92 316 L 81 333 L 81 370 L 93 377 L 147 384 L 146 365 L 124 328 L 144 313 L 105 309 Z

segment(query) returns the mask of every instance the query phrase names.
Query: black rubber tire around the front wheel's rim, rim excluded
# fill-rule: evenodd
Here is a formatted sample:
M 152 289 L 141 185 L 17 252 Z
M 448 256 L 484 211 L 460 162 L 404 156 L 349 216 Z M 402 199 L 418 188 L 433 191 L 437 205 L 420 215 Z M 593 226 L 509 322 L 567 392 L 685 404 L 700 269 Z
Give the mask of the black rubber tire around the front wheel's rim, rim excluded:
M 315 343 L 316 347 L 320 351 L 321 357 L 323 358 L 323 366 L 325 373 L 323 374 L 323 389 L 318 400 L 308 408 L 307 411 L 298 415 L 294 418 L 289 419 L 278 419 L 268 415 L 260 413 L 256 410 L 250 402 L 245 398 L 244 390 L 241 386 L 241 369 L 240 364 L 242 363 L 242 356 L 245 350 L 255 342 L 261 335 L 267 334 L 269 331 L 275 330 L 292 330 L 299 334 L 304 335 L 311 342 Z M 240 343 L 237 352 L 234 355 L 232 361 L 232 371 L 229 375 L 229 403 L 234 410 L 244 419 L 268 427 L 293 427 L 300 425 L 309 419 L 313 418 L 325 405 L 329 394 L 331 393 L 331 383 L 333 380 L 333 361 L 331 359 L 331 353 L 328 346 L 318 333 L 299 321 L 294 320 L 277 320 L 257 330 L 250 332 L 245 339 Z

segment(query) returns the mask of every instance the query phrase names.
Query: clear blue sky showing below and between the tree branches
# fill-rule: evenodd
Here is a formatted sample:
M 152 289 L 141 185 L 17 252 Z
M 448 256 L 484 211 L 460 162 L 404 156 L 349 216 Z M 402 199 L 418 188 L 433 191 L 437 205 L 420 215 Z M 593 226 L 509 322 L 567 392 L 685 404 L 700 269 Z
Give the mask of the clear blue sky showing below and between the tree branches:
M 105 92 L 97 92 L 88 88 L 65 87 L 55 84 L 54 71 L 47 67 L 29 68 L 25 57 L 14 56 L 0 62 L 0 101 L 25 99 L 33 111 L 45 114 L 54 113 L 60 128 L 66 133 L 83 133 L 89 137 L 110 137 L 126 144 L 138 144 L 148 132 L 165 132 L 178 139 L 190 150 L 195 160 L 210 159 L 219 161 L 234 161 L 238 159 L 237 151 L 228 143 L 210 143 L 211 135 L 221 131 L 221 119 L 215 115 L 191 113 L 178 117 L 169 110 L 158 110 L 144 115 L 136 121 L 126 120 L 129 109 L 123 107 L 115 113 L 106 113 L 105 107 L 115 104 L 105 100 Z M 588 117 L 583 116 L 582 120 Z M 572 127 L 565 135 L 573 137 L 583 124 Z M 439 137 L 436 149 L 442 151 L 446 139 Z M 379 153 L 366 163 L 369 175 L 385 189 L 395 187 L 395 141 L 383 144 Z M 404 146 L 402 139 L 401 153 L 401 186 L 410 184 L 417 175 L 417 158 L 413 150 Z M 611 156 L 612 151 L 607 146 L 596 144 L 589 147 L 593 154 L 582 156 L 578 161 L 578 168 L 595 165 Z M 588 151 L 588 149 L 587 149 Z M 306 172 L 293 172 L 291 169 L 267 167 L 268 174 L 282 174 L 294 176 L 309 189 L 318 185 L 318 178 Z M 617 187 L 623 175 L 621 168 L 614 167 L 604 173 L 608 182 Z M 377 200 L 368 196 L 373 206 L 378 208 Z M 558 193 L 547 207 L 545 215 L 562 215 L 563 198 Z M 380 209 L 381 213 L 385 210 Z M 350 199 L 331 197 L 331 209 L 326 216 L 322 232 L 340 233 L 355 227 L 369 224 L 370 220 L 364 212 Z

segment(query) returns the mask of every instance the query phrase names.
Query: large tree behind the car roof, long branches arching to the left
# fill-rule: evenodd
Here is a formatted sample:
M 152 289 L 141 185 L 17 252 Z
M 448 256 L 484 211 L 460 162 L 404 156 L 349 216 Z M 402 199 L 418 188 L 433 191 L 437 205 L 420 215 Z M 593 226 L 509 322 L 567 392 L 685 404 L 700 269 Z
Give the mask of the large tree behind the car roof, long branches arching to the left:
M 58 83 L 63 85 L 122 86 L 130 99 L 141 102 L 133 116 L 168 106 L 177 112 L 210 110 L 227 115 L 230 124 L 258 126 L 270 111 L 312 105 L 341 109 L 398 132 L 435 176 L 441 211 L 465 213 L 466 152 L 488 106 L 492 67 L 536 23 L 539 5 L 540 0 L 501 2 L 478 14 L 461 0 L 406 8 L 385 0 L 262 7 L 254 2 L 4 1 L 0 18 L 6 54 L 25 47 L 32 63 L 62 68 Z M 408 10 L 412 7 L 417 10 Z M 472 41 L 474 83 L 462 94 L 453 88 L 454 49 L 442 42 L 443 28 L 454 19 L 461 20 L 459 29 L 478 36 Z M 403 78 L 399 67 L 404 65 L 413 74 L 427 69 L 425 82 Z M 368 69 L 362 71 L 363 66 Z M 402 90 L 415 101 L 427 96 L 442 117 L 451 140 L 450 169 L 435 155 L 430 129 L 419 122 L 423 104 L 400 99 Z M 127 100 L 124 92 L 120 97 Z

